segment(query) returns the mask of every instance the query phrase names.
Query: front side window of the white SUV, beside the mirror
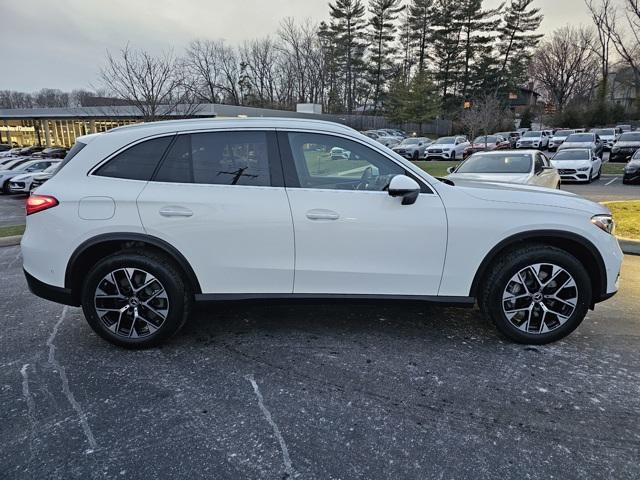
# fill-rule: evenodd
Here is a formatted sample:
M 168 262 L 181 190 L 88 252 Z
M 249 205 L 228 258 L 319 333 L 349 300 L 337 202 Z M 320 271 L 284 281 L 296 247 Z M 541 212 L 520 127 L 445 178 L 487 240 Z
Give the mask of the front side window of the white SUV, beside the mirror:
M 289 133 L 302 188 L 382 191 L 404 168 L 371 148 L 340 137 Z

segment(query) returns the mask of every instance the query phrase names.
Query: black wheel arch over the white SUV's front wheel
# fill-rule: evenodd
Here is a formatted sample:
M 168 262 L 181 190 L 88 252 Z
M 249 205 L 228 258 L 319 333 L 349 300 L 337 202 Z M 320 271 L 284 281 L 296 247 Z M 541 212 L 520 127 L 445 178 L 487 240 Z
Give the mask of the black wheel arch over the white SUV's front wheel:
M 491 265 L 505 252 L 527 244 L 539 243 L 560 248 L 575 256 L 587 269 L 593 288 L 593 303 L 607 293 L 607 269 L 602 255 L 591 241 L 581 235 L 560 230 L 534 230 L 505 238 L 489 251 L 478 268 L 469 296 L 477 297 Z

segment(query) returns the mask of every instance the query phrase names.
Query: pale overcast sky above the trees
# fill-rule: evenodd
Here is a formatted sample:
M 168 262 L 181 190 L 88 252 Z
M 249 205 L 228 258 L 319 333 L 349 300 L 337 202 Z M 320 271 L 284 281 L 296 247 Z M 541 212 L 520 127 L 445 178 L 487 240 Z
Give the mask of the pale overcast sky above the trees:
M 589 23 L 583 0 L 535 3 L 544 32 Z M 272 35 L 286 16 L 324 20 L 327 0 L 0 0 L 0 89 L 90 88 L 106 50 L 127 42 L 181 53 L 195 38 Z

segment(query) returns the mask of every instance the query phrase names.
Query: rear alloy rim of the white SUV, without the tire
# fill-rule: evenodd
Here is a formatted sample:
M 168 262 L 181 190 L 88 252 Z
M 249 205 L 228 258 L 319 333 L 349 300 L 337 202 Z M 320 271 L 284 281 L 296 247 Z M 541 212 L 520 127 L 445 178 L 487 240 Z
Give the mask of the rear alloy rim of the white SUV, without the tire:
M 138 268 L 120 268 L 105 275 L 96 287 L 94 305 L 104 326 L 124 338 L 153 335 L 169 313 L 162 283 Z

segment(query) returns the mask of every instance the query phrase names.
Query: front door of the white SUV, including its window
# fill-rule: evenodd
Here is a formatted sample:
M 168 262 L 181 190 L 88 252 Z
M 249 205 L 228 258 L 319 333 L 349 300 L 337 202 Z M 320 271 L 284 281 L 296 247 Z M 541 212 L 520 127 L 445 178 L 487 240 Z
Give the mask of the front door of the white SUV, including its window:
M 354 139 L 279 134 L 295 230 L 297 294 L 437 295 L 447 243 L 440 197 L 403 206 L 405 168 Z

